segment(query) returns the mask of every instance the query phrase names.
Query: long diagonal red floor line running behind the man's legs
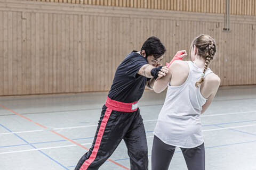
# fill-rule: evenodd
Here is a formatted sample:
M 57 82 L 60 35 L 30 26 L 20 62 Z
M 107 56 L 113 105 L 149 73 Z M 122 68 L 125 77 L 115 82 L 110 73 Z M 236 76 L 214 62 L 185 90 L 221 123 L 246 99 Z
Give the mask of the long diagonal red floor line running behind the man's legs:
M 7 108 L 7 107 L 4 107 L 3 105 L 0 105 L 0 106 L 3 107 L 3 108 L 5 108 L 7 111 L 10 111 L 10 112 L 12 112 L 12 113 L 14 113 L 14 114 L 16 114 L 16 115 L 18 115 L 18 116 L 21 116 L 21 117 L 25 118 L 26 120 L 28 120 L 28 121 L 30 121 L 30 122 L 33 122 L 33 121 L 30 120 L 29 118 L 27 118 L 27 117 L 25 117 L 25 116 L 23 116 L 23 115 L 21 115 L 21 114 L 19 114 L 19 113 L 16 113 L 16 112 L 12 111 L 11 109 L 9 109 L 9 108 Z M 38 126 L 41 126 L 42 128 L 47 129 L 45 126 L 43 126 L 43 125 L 41 125 L 41 124 L 39 124 L 39 123 L 36 123 L 36 122 L 34 122 L 34 123 L 37 124 Z M 63 135 L 61 135 L 61 134 L 59 134 L 59 133 L 57 133 L 57 132 L 55 132 L 55 131 L 53 131 L 53 130 L 51 130 L 51 132 L 53 132 L 53 133 L 59 135 L 60 137 L 62 137 L 62 138 L 64 138 L 64 139 L 67 139 L 68 141 L 70 141 L 70 142 L 72 142 L 72 143 L 75 143 L 75 144 L 76 144 L 77 146 L 79 146 L 79 147 L 82 147 L 82 148 L 84 148 L 84 149 L 86 149 L 86 150 L 89 150 L 88 148 L 84 147 L 83 145 L 80 145 L 79 143 L 77 143 L 77 142 L 75 142 L 75 141 L 73 141 L 73 140 L 71 140 L 71 139 L 68 139 L 67 137 L 65 137 L 65 136 L 63 136 Z M 114 163 L 114 164 L 116 164 L 116 165 L 118 165 L 118 166 L 120 166 L 120 167 L 122 167 L 122 168 L 124 168 L 124 169 L 130 170 L 129 168 L 127 168 L 127 167 L 125 167 L 125 166 L 123 166 L 123 165 L 121 165 L 121 164 L 118 164 L 118 163 L 115 162 L 114 160 L 108 159 L 108 161 L 111 162 L 111 163 Z

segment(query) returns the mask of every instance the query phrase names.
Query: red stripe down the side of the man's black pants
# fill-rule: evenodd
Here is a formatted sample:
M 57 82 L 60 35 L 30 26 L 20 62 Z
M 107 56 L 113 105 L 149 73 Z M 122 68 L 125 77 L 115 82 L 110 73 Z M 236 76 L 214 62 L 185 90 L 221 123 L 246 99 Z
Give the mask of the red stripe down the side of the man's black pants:
M 97 134 L 97 139 L 96 139 L 96 142 L 94 144 L 92 154 L 90 155 L 89 159 L 85 160 L 83 165 L 80 167 L 80 170 L 86 170 L 91 165 L 91 163 L 94 161 L 94 159 L 96 158 L 99 147 L 100 147 L 101 139 L 102 139 L 103 133 L 105 131 L 106 125 L 108 123 L 108 118 L 109 118 L 111 112 L 112 112 L 112 109 L 110 109 L 110 108 L 106 109 L 105 115 L 104 115 L 103 120 L 101 121 L 101 124 L 100 124 L 100 129 L 99 129 L 99 132 Z

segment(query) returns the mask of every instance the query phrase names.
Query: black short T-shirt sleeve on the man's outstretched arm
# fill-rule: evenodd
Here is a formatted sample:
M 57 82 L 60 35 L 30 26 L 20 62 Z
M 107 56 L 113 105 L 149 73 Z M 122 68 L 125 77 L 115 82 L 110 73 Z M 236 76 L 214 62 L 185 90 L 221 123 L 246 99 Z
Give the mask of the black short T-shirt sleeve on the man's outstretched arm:
M 148 62 L 146 61 L 146 58 L 144 58 L 143 56 L 141 55 L 131 56 L 125 64 L 125 70 L 126 70 L 125 74 L 128 77 L 135 78 L 135 75 L 138 73 L 140 68 L 145 64 L 148 64 Z

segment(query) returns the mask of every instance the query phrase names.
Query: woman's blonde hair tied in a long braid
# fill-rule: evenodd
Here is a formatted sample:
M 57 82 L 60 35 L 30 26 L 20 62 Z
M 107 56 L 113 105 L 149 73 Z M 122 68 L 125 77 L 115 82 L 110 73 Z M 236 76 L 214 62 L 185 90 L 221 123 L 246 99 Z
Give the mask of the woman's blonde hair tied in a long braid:
M 202 34 L 193 40 L 190 46 L 190 52 L 191 49 L 194 48 L 194 46 L 197 48 L 197 55 L 204 58 L 205 60 L 205 66 L 204 71 L 202 73 L 202 77 L 195 84 L 196 87 L 198 88 L 198 85 L 204 82 L 205 71 L 207 70 L 210 61 L 213 59 L 216 53 L 216 44 L 211 36 Z

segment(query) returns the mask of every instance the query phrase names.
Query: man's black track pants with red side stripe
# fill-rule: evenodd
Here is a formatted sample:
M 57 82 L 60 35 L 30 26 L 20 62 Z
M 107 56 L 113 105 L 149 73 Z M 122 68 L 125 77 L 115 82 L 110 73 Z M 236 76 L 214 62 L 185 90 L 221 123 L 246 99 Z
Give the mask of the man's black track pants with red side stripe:
M 99 169 L 122 139 L 128 149 L 131 170 L 147 170 L 147 139 L 139 108 L 135 112 L 117 112 L 105 105 L 92 147 L 79 160 L 75 170 Z

